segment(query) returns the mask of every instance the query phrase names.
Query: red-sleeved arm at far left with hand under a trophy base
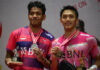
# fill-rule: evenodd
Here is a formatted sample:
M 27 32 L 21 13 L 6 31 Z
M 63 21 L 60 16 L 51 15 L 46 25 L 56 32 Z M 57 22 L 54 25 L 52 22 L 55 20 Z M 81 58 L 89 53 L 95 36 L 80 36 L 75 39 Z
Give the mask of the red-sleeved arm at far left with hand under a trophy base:
M 9 68 L 15 68 L 16 66 L 22 65 L 22 63 L 12 61 L 14 55 L 13 50 L 16 47 L 16 38 L 15 34 L 12 32 L 7 44 L 7 52 L 5 57 L 5 63 Z

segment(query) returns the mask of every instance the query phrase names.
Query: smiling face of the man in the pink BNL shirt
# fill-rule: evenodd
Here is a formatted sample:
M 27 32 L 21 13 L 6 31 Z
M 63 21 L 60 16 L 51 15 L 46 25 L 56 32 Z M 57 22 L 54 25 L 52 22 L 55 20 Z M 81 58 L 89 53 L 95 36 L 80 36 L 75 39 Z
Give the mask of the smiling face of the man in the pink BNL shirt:
M 64 29 L 72 30 L 72 29 L 76 28 L 76 23 L 78 22 L 78 19 L 76 18 L 76 15 L 75 15 L 74 11 L 65 10 L 62 13 L 60 21 L 63 24 Z

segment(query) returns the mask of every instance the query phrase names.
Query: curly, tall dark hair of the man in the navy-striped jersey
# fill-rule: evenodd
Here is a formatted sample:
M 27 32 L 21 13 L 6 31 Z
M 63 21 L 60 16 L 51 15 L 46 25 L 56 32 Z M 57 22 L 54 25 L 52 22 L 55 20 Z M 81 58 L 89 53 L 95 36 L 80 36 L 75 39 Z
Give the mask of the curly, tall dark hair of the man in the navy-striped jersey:
M 32 7 L 37 7 L 37 8 L 40 8 L 42 10 L 42 14 L 44 15 L 45 14 L 45 11 L 46 11 L 46 8 L 45 8 L 45 4 L 43 4 L 42 2 L 40 1 L 34 1 L 34 2 L 30 2 L 27 6 L 28 8 L 28 13 L 30 12 L 31 8 Z

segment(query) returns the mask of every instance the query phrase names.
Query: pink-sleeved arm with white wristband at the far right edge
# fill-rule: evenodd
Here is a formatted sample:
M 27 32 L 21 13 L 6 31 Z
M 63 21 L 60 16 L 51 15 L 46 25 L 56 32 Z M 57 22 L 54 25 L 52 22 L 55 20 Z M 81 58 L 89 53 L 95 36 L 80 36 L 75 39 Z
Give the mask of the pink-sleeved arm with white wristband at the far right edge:
M 91 38 L 88 43 L 91 46 L 90 48 L 92 48 L 90 51 L 91 56 L 95 60 L 94 64 L 88 70 L 96 70 L 98 67 L 100 67 L 100 52 L 95 38 Z

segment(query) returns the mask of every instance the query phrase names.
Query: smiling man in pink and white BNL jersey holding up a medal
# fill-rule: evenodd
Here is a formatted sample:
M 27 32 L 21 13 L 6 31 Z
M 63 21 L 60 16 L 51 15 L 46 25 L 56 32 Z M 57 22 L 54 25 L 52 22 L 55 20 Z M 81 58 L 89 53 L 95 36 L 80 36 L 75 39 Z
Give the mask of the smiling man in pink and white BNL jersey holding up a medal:
M 97 62 L 100 61 L 97 42 L 92 35 L 76 29 L 78 11 L 73 6 L 65 6 L 60 12 L 60 21 L 65 33 L 52 44 L 52 70 L 58 70 L 58 61 L 61 62 L 58 56 L 61 56 L 62 52 L 65 54 L 65 60 L 74 65 L 77 70 L 80 70 L 80 68 L 85 70 L 97 69 Z M 91 57 L 96 59 L 95 64 L 92 66 Z

